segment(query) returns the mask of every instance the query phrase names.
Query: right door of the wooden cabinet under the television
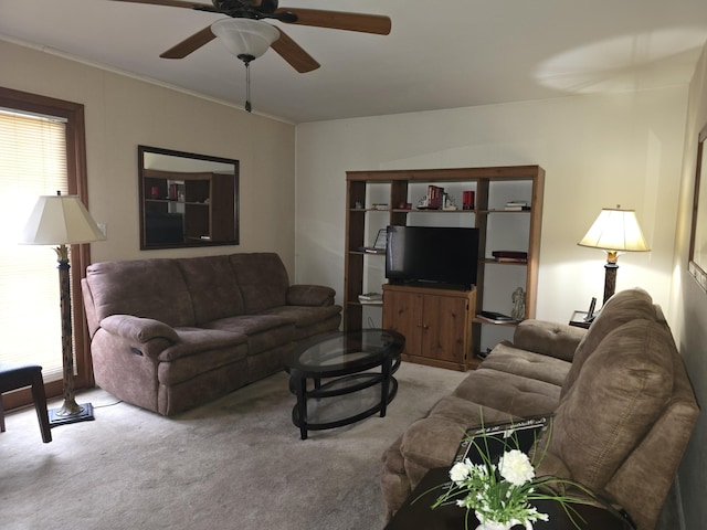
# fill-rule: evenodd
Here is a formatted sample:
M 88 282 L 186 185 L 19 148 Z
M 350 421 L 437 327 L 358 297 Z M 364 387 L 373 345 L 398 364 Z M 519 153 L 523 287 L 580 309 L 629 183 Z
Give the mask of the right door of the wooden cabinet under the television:
M 426 358 L 464 362 L 466 299 L 452 296 L 424 297 L 422 352 Z

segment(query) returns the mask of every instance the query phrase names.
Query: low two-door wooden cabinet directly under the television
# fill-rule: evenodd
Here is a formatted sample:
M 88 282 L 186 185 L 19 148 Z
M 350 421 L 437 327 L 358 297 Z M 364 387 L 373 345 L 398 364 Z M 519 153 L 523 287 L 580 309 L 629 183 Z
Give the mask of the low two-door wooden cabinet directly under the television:
M 476 364 L 472 321 L 476 289 L 383 286 L 383 328 L 405 337 L 402 359 L 465 371 Z

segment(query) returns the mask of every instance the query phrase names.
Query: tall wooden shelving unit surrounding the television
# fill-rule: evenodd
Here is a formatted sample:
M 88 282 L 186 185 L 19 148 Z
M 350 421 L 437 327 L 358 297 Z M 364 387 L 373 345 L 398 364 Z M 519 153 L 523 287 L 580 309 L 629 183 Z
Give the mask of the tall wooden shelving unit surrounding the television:
M 535 317 L 545 188 L 542 168 L 509 166 L 348 171 L 346 178 L 346 330 L 361 329 L 365 324 L 370 327 L 370 318 L 365 315 L 369 306 L 361 305 L 358 295 L 382 289 L 387 282 L 384 256 L 369 255 L 360 248 L 370 246 L 378 230 L 387 225 L 475 226 L 481 230 L 473 329 L 471 338 L 464 338 L 471 341 L 475 353 L 486 351 L 498 340 L 510 338 L 514 329 L 513 325 L 496 325 L 478 318 L 477 311 L 483 309 L 509 315 L 514 292 L 520 288 L 525 295 L 524 318 Z M 458 209 L 415 208 L 430 184 L 444 188 L 455 199 Z M 471 209 L 462 209 L 465 191 L 473 191 L 475 195 Z M 523 200 L 528 208 L 506 208 L 509 201 L 516 200 Z M 527 258 L 499 261 L 494 257 L 494 251 L 519 251 L 526 253 Z M 384 299 L 384 305 L 388 304 Z M 383 308 L 383 321 L 386 315 L 388 309 Z M 437 338 L 439 342 L 444 340 L 447 339 Z M 460 337 L 456 340 L 461 340 Z

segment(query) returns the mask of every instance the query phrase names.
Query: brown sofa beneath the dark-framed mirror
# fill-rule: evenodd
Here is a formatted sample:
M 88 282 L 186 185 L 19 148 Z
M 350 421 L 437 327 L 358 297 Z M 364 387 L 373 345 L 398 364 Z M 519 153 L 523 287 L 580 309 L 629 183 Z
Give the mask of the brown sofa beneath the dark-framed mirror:
M 273 253 L 95 263 L 82 289 L 96 383 L 163 415 L 282 370 L 341 319 L 334 289 L 291 286 Z

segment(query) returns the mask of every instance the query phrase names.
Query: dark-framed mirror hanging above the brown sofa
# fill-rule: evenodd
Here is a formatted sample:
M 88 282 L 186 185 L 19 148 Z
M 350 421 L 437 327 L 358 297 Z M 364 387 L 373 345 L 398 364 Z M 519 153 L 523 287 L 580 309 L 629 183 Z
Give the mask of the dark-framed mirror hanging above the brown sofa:
M 140 250 L 239 244 L 239 161 L 138 146 Z

